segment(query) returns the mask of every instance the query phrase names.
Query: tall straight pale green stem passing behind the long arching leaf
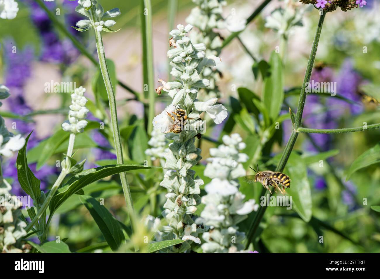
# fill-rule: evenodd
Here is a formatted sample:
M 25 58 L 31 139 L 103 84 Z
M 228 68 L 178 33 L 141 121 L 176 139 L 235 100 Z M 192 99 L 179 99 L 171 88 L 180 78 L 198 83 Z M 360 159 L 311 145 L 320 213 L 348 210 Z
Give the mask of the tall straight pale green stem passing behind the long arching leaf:
M 96 19 L 95 7 L 92 7 L 90 9 L 90 17 L 91 17 L 92 24 L 94 24 L 95 19 Z M 112 134 L 114 137 L 115 150 L 116 150 L 116 161 L 117 161 L 117 164 L 124 164 L 122 144 L 121 144 L 120 131 L 119 131 L 119 123 L 117 122 L 115 91 L 114 91 L 114 88 L 112 87 L 112 82 L 108 73 L 108 67 L 107 67 L 107 62 L 106 62 L 106 56 L 104 53 L 104 46 L 103 46 L 103 39 L 101 37 L 101 32 L 98 32 L 95 28 L 94 28 L 94 32 L 95 32 L 96 48 L 98 52 L 100 70 L 103 76 L 103 81 L 106 86 L 107 95 L 108 95 L 109 112 L 111 115 L 111 128 L 112 128 Z M 122 184 L 122 188 L 124 192 L 125 201 L 127 202 L 127 209 L 130 215 L 129 217 L 131 220 L 131 214 L 133 214 L 133 203 L 132 203 L 131 191 L 129 189 L 126 172 L 120 173 L 120 180 L 121 180 L 121 184 Z

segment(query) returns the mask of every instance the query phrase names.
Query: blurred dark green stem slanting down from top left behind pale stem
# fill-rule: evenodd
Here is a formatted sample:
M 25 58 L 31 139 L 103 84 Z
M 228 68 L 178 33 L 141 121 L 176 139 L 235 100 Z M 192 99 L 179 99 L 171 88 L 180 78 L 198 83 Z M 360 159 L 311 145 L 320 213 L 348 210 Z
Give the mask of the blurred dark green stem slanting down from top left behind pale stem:
M 65 25 L 63 25 L 58 19 L 57 17 L 44 5 L 44 3 L 42 2 L 42 0 L 36 0 L 37 4 L 40 5 L 40 7 L 46 12 L 47 16 L 49 17 L 49 19 L 54 23 L 54 25 L 65 35 L 67 36 L 67 38 L 70 39 L 70 41 L 74 44 L 74 46 L 81 52 L 81 54 L 83 54 L 84 56 L 86 56 L 87 58 L 90 59 L 90 61 L 94 64 L 94 65 L 98 65 L 98 61 L 96 61 L 95 58 L 93 58 L 93 56 L 90 54 L 90 52 L 87 51 L 87 49 L 84 47 L 84 45 L 78 41 L 77 38 L 75 38 L 65 27 Z M 133 95 L 135 95 L 136 97 L 139 96 L 139 94 L 133 90 L 132 88 L 130 88 L 128 85 L 124 84 L 123 82 L 121 82 L 120 80 L 117 81 L 119 83 L 119 85 L 121 87 L 123 87 L 124 89 L 128 90 L 129 92 L 131 92 Z

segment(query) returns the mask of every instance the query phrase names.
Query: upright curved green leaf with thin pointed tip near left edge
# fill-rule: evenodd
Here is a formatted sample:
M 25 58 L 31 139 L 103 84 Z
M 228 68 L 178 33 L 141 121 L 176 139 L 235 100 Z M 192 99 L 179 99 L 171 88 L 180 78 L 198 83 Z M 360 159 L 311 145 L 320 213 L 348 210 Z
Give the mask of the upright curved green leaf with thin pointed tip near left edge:
M 26 159 L 26 147 L 27 147 L 28 140 L 32 132 L 30 132 L 30 134 L 25 139 L 24 147 L 19 150 L 16 164 L 17 164 L 17 178 L 19 180 L 21 188 L 25 191 L 25 193 L 30 195 L 30 197 L 32 197 L 34 201 L 37 202 L 41 196 L 41 189 L 40 189 L 41 181 L 38 178 L 36 178 L 33 172 L 29 169 L 28 161 Z

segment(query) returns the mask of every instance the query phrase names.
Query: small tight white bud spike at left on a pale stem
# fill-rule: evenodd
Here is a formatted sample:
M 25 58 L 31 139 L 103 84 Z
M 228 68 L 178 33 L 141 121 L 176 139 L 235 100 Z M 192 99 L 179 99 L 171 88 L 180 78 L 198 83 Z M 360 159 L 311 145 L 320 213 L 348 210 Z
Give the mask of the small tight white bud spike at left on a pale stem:
M 86 88 L 76 88 L 71 94 L 71 106 L 69 111 L 69 120 L 62 123 L 62 129 L 73 134 L 81 133 L 87 126 L 87 121 L 82 120 L 87 117 L 89 110 L 86 108 L 86 97 L 83 94 Z

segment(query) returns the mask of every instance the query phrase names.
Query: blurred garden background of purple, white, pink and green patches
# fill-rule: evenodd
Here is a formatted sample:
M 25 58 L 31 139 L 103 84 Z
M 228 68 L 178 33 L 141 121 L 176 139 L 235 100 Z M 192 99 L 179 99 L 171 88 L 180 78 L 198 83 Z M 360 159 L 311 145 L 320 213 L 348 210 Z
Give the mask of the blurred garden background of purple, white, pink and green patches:
M 94 90 L 99 90 L 99 72 L 92 62 L 73 45 L 67 36 L 59 31 L 40 5 L 32 0 L 17 0 L 19 12 L 13 20 L 1 20 L 1 60 L 0 83 L 11 90 L 11 96 L 5 100 L 1 114 L 6 120 L 9 131 L 16 125 L 15 134 L 26 136 L 34 130 L 28 143 L 28 162 L 36 177 L 41 180 L 41 188 L 46 189 L 59 174 L 56 159 L 65 150 L 65 143 L 57 148 L 56 155 L 47 164 L 36 170 L 40 143 L 60 129 L 67 118 L 70 95 L 65 93 L 46 93 L 45 83 L 76 82 L 77 86 L 87 88 L 87 96 L 95 103 Z M 141 8 L 139 1 L 103 0 L 105 11 L 120 8 L 122 15 L 116 19 L 114 30 L 117 33 L 103 32 L 106 57 L 114 63 L 114 76 L 128 86 L 116 87 L 120 129 L 125 145 L 127 162 L 143 163 L 150 160 L 145 154 L 149 148 L 144 126 L 144 106 L 142 76 L 142 38 Z M 260 5 L 259 0 L 227 0 L 223 17 L 236 13 L 246 19 Z M 234 101 L 241 103 L 238 91 L 244 87 L 261 95 L 262 80 L 255 78 L 252 66 L 255 61 L 269 60 L 277 46 L 286 47 L 285 67 L 285 104 L 283 114 L 288 107 L 296 110 L 299 87 L 304 78 L 312 40 L 318 23 L 318 12 L 311 5 L 297 5 L 293 1 L 292 9 L 298 9 L 299 17 L 292 17 L 284 23 L 284 16 L 274 13 L 279 7 L 286 8 L 288 2 L 272 0 L 260 16 L 247 26 L 237 39 L 222 49 L 222 64 L 218 70 L 223 74 L 218 80 L 220 102 L 228 107 L 229 114 L 234 109 Z M 169 67 L 166 52 L 169 49 L 168 32 L 177 24 L 186 24 L 185 19 L 195 4 L 191 0 L 175 1 L 152 0 L 154 74 L 163 80 L 169 80 Z M 56 16 L 72 36 L 80 41 L 90 54 L 96 54 L 94 37 L 91 32 L 78 32 L 71 28 L 83 17 L 74 11 L 76 1 L 55 0 L 43 2 Z M 310 128 L 343 128 L 362 126 L 378 122 L 380 111 L 376 98 L 368 99 L 364 95 L 370 89 L 371 96 L 378 94 L 380 85 L 380 1 L 369 0 L 363 8 L 346 13 L 337 10 L 326 15 L 322 36 L 317 52 L 317 66 L 312 79 L 319 82 L 336 82 L 337 95 L 340 98 L 309 95 L 304 110 L 304 124 Z M 59 9 L 59 15 L 56 15 Z M 193 31 L 194 32 L 194 31 Z M 219 31 L 223 38 L 230 35 L 224 28 Z M 286 35 L 285 44 L 283 43 Z M 16 53 L 13 52 L 16 47 Z M 94 56 L 96 57 L 96 55 Z M 109 62 L 112 63 L 112 62 Z M 111 74 L 112 75 L 112 74 Z M 158 86 L 158 83 L 155 84 Z M 103 85 L 104 86 L 104 85 Z M 295 89 L 294 89 L 295 88 Z M 369 88 L 369 89 L 368 89 Z M 135 91 L 136 94 L 131 93 Z M 379 98 L 380 100 L 380 98 Z M 164 94 L 156 99 L 156 114 L 169 103 Z M 94 105 L 89 117 L 101 121 L 102 112 Z M 224 122 L 224 124 L 227 121 Z M 220 143 L 223 134 L 239 133 L 250 148 L 252 135 L 246 127 L 234 123 L 232 127 L 213 128 L 207 132 L 209 140 L 203 140 L 203 161 L 195 167 L 202 177 L 205 159 L 209 157 L 209 148 Z M 276 132 L 274 143 L 269 150 L 263 148 L 262 161 L 268 161 L 280 153 L 291 133 L 291 122 L 285 120 L 282 128 Z M 328 168 L 320 168 L 319 160 L 310 160 L 307 164 L 307 180 L 312 192 L 312 210 L 315 217 L 309 223 L 297 218 L 283 208 L 268 208 L 265 222 L 260 226 L 260 252 L 380 252 L 380 215 L 369 209 L 370 205 L 380 204 L 380 167 L 372 164 L 351 175 L 345 181 L 346 171 L 360 154 L 379 142 L 380 131 L 371 130 L 361 133 L 337 135 L 299 136 L 295 152 L 309 158 L 318 152 L 326 152 Z M 101 130 L 84 133 L 76 142 L 81 148 L 78 156 L 87 158 L 85 168 L 106 165 L 116 156 L 112 152 L 112 140 Z M 247 152 L 245 152 L 247 151 Z M 249 153 L 249 150 L 244 150 Z M 16 157 L 3 162 L 3 175 L 13 180 L 13 194 L 21 195 L 17 185 Z M 378 162 L 378 161 L 377 161 Z M 158 164 L 158 160 L 154 161 Z M 326 164 L 326 162 L 325 162 Z M 247 166 L 245 166 L 247 167 Z M 249 173 L 249 172 L 247 172 Z M 252 173 L 249 173 L 252 174 Z M 136 211 L 141 214 L 161 216 L 165 202 L 165 189 L 158 186 L 162 171 L 135 172 L 128 174 Z M 205 184 L 210 180 L 202 177 Z M 246 199 L 260 200 L 261 185 L 241 182 L 240 191 Z M 86 194 L 93 197 L 105 197 L 105 205 L 118 220 L 126 220 L 127 213 L 118 177 L 101 181 L 86 188 Z M 104 238 L 92 217 L 81 205 L 77 195 L 62 205 L 52 221 L 51 235 L 67 237 L 71 251 L 109 251 Z M 365 199 L 365 200 L 364 200 Z M 293 211 L 292 211 L 293 212 Z M 284 216 L 286 215 L 286 216 Z M 252 216 L 239 225 L 241 230 L 248 229 Z M 323 231 L 323 232 L 321 232 Z M 315 238 L 323 235 L 325 244 L 320 245 Z M 51 240 L 54 240 L 53 237 Z M 103 246 L 102 246 L 103 244 Z

